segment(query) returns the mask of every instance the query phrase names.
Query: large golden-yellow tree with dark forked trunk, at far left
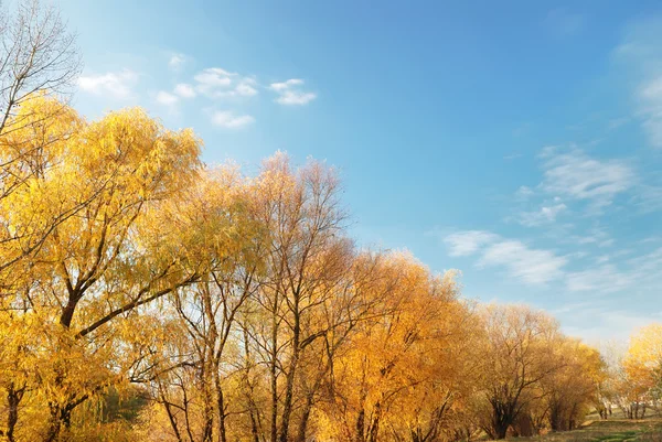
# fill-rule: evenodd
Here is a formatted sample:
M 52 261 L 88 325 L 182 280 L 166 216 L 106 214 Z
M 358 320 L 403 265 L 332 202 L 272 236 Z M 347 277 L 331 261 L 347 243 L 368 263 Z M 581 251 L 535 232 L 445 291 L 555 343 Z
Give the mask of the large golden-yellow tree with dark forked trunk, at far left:
M 32 116 L 51 106 L 64 105 L 50 98 L 30 101 Z M 6 309 L 34 312 L 57 325 L 44 343 L 50 363 L 39 376 L 50 409 L 47 441 L 71 424 L 78 405 L 115 381 L 117 367 L 108 362 L 119 349 L 114 334 L 104 332 L 107 324 L 127 321 L 200 276 L 193 252 L 199 248 L 184 242 L 195 238 L 181 235 L 196 219 L 169 219 L 167 209 L 196 176 L 199 140 L 190 131 L 170 132 L 137 109 L 93 123 L 68 108 L 57 118 L 71 122 L 36 123 L 43 137 L 54 131 L 58 140 L 35 159 L 36 165 L 50 166 L 38 168 L 0 207 L 10 231 L 51 226 L 21 271 L 13 272 L 11 285 L 24 289 L 4 294 Z M 60 137 L 63 127 L 66 139 Z M 30 141 L 32 132 L 24 128 L 7 137 L 21 145 L 20 137 L 25 133 Z M 61 207 L 77 207 L 75 216 L 53 225 L 52 214 Z M 23 241 L 31 239 L 19 246 Z M 4 247 L 2 254 L 12 259 L 15 251 Z M 95 369 L 92 360 L 104 369 Z M 83 366 L 94 376 L 81 371 Z

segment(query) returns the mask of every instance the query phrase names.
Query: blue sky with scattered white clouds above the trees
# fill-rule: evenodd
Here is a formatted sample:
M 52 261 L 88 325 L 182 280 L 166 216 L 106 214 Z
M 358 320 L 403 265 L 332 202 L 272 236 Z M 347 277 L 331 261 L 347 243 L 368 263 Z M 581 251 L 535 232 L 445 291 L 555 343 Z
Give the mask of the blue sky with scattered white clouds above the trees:
M 58 4 L 88 118 L 141 106 L 248 174 L 324 160 L 359 245 L 590 343 L 662 321 L 659 2 Z

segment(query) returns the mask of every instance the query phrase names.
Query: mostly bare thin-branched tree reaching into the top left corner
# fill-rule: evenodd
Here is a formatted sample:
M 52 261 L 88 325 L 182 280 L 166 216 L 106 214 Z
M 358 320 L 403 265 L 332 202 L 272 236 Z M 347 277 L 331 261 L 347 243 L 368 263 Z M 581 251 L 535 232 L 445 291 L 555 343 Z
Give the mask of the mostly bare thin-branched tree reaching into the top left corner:
M 18 2 L 15 11 L 0 13 L 0 41 L 1 201 L 29 186 L 33 175 L 50 169 L 51 153 L 75 129 L 71 109 L 61 100 L 68 96 L 81 61 L 75 37 L 67 32 L 57 10 L 39 0 Z M 44 106 L 39 99 L 43 95 L 60 100 Z M 33 99 L 40 103 L 31 103 Z M 53 227 L 79 207 L 81 204 L 55 204 L 47 217 L 40 214 L 39 222 L 4 226 L 0 244 L 13 252 L 3 254 L 0 272 L 41 247 Z

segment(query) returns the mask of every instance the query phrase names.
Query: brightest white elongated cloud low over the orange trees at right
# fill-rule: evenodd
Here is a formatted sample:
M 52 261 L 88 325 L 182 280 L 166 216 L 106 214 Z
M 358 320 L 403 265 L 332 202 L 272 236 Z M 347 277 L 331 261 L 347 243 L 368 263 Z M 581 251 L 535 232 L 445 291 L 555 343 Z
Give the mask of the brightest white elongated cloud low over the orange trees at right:
M 540 285 L 560 278 L 567 259 L 549 250 L 532 249 L 517 240 L 502 240 L 483 250 L 481 266 L 505 267 L 522 282 Z

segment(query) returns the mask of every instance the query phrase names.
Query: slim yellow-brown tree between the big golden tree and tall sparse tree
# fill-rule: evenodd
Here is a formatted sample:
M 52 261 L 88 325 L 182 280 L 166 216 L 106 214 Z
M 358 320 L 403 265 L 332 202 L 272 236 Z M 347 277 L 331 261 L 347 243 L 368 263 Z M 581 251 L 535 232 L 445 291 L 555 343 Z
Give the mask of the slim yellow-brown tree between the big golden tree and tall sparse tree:
M 199 259 L 207 262 L 199 281 L 173 293 L 170 315 L 184 332 L 171 335 L 171 357 L 161 357 L 147 378 L 178 441 L 227 440 L 225 389 L 237 366 L 236 323 L 263 281 L 267 245 L 249 191 L 236 168 L 211 170 L 177 208 L 199 217 L 196 242 L 205 247 Z

